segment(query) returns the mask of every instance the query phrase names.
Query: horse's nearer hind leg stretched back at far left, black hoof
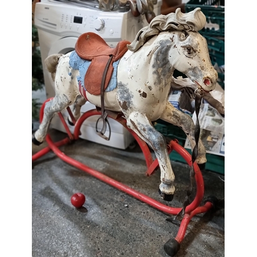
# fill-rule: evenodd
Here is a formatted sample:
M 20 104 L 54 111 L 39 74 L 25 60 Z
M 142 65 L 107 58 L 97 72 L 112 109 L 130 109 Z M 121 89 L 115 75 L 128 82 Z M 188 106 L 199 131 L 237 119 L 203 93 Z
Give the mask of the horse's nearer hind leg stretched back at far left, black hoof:
M 66 95 L 62 94 L 56 95 L 52 100 L 46 102 L 42 122 L 32 138 L 34 144 L 39 145 L 44 141 L 53 115 L 63 111 L 74 101 L 75 98 L 72 101 L 72 99 L 69 99 Z

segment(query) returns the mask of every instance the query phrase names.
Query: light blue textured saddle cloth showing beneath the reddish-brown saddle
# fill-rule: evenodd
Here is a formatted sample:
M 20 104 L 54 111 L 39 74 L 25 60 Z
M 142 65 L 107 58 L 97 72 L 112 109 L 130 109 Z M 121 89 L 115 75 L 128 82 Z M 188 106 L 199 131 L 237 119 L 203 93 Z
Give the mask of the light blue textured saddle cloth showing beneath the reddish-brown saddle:
M 118 68 L 119 62 L 120 62 L 120 59 L 113 63 L 113 67 L 114 67 L 113 75 L 108 86 L 105 89 L 105 92 L 112 91 L 117 87 L 117 68 Z M 86 90 L 86 87 L 84 84 L 84 80 L 85 80 L 85 75 L 90 63 L 91 63 L 90 61 L 81 59 L 76 53 L 76 51 L 72 51 L 69 56 L 69 65 L 72 69 L 79 70 L 80 75 L 77 76 L 77 80 L 78 80 L 78 83 L 79 82 L 81 83 L 81 85 L 84 87 L 85 90 Z M 69 76 L 71 76 L 71 73 L 69 73 Z

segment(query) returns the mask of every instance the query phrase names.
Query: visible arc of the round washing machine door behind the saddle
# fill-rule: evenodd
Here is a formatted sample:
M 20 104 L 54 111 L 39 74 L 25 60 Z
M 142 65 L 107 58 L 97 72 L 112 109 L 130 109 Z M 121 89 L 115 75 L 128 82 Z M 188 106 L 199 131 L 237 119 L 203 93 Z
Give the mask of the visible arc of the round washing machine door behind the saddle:
M 66 54 L 75 49 L 78 38 L 76 36 L 67 36 L 54 42 L 49 50 L 48 56 L 54 53 Z

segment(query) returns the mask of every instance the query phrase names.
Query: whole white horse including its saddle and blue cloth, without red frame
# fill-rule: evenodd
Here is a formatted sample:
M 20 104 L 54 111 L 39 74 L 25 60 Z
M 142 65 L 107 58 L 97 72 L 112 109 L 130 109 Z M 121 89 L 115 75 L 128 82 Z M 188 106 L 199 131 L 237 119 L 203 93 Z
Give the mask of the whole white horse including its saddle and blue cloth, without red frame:
M 169 158 L 171 149 L 167 148 L 166 139 L 155 130 L 152 122 L 162 119 L 181 127 L 192 149 L 197 148 L 195 162 L 206 162 L 205 147 L 200 139 L 195 140 L 192 118 L 168 101 L 175 69 L 197 84 L 197 94 L 215 88 L 217 72 L 211 64 L 207 42 L 197 32 L 205 24 L 206 17 L 200 8 L 186 14 L 178 8 L 175 13 L 156 16 L 149 26 L 138 32 L 132 43 L 121 41 L 116 48 L 110 48 L 99 35 L 88 32 L 80 36 L 74 51 L 49 56 L 45 64 L 54 80 L 56 96 L 43 106 L 41 124 L 33 135 L 33 143 L 39 145 L 45 140 L 53 115 L 68 106 L 69 123 L 81 123 L 80 108 L 89 101 L 101 114 L 103 128 L 97 131 L 100 136 L 108 140 L 105 136 L 106 117 L 116 114 L 131 132 L 154 150 L 160 168 L 159 194 L 164 200 L 171 201 L 175 192 L 175 176 Z M 174 143 L 172 147 L 178 149 Z M 197 164 L 191 162 L 198 171 Z M 197 171 L 198 181 L 202 180 Z M 200 194 L 203 197 L 203 192 Z M 186 211 L 194 210 L 200 200 L 194 201 L 194 207 Z M 200 209 L 201 212 L 206 210 Z M 175 248 L 172 253 L 166 251 L 173 256 L 178 250 L 177 246 Z

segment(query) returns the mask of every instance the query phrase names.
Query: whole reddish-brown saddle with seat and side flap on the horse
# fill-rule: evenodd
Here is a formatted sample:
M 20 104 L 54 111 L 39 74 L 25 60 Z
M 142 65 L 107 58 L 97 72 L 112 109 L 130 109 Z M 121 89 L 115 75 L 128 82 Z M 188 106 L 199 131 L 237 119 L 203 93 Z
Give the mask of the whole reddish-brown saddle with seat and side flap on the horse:
M 113 74 L 113 63 L 118 61 L 128 50 L 127 44 L 130 42 L 123 40 L 118 43 L 116 48 L 111 48 L 101 36 L 93 32 L 84 33 L 79 37 L 75 50 L 80 58 L 91 61 L 84 82 L 89 94 L 101 94 L 101 81 L 105 68 L 107 71 L 104 90 L 106 89 Z

